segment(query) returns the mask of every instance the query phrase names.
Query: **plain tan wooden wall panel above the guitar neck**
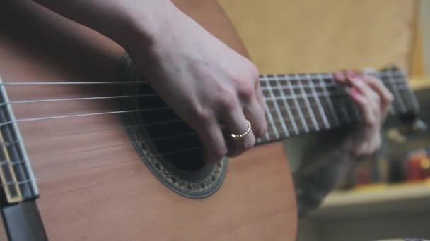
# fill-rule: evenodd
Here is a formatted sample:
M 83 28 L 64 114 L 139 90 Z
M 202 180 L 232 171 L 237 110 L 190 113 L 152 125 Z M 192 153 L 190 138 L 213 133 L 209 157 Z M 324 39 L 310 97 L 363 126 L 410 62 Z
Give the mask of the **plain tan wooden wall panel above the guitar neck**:
M 261 73 L 407 70 L 416 0 L 220 0 Z

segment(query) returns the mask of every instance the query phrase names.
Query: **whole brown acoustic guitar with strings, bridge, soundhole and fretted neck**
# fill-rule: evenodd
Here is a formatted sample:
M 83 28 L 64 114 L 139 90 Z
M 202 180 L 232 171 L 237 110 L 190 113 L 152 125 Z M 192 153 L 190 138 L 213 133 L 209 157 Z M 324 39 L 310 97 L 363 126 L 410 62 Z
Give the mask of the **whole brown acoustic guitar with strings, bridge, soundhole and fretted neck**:
M 248 56 L 216 1 L 174 2 Z M 261 75 L 267 135 L 207 164 L 120 46 L 32 1 L 2 1 L 0 18 L 4 239 L 295 240 L 281 140 L 360 121 L 330 73 Z M 393 92 L 393 116 L 417 113 L 400 70 L 372 74 Z

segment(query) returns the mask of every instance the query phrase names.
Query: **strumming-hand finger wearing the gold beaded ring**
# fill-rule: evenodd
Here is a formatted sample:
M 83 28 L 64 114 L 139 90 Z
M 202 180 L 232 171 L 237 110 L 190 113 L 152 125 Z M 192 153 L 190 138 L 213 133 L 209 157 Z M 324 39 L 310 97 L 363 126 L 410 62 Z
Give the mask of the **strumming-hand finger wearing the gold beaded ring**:
M 245 115 L 243 114 L 243 111 L 241 109 L 236 109 L 235 111 L 231 111 L 229 113 L 224 114 L 223 119 L 221 121 L 226 124 L 226 127 L 228 129 L 228 135 L 240 135 L 246 132 L 249 127 Z M 253 147 L 255 144 L 255 136 L 252 130 L 250 130 L 248 135 L 245 135 L 245 137 L 240 138 L 238 140 L 233 140 L 231 136 L 227 136 L 226 138 L 226 143 L 228 147 L 227 156 L 229 157 L 238 156 L 245 152 L 247 149 Z

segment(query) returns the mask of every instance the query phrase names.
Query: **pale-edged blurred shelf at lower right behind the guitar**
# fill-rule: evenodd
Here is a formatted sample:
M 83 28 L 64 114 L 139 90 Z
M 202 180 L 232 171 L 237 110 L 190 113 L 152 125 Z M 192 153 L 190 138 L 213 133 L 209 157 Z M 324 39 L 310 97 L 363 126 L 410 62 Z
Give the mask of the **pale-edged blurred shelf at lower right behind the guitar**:
M 430 180 L 398 185 L 370 185 L 328 195 L 313 218 L 412 214 L 430 210 Z

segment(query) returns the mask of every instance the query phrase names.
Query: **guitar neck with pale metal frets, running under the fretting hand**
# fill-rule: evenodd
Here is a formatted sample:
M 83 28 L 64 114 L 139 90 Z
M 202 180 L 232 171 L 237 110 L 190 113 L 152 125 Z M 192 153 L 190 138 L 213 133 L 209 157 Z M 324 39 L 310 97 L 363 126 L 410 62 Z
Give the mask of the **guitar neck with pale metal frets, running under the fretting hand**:
M 395 97 L 391 115 L 417 113 L 419 105 L 397 68 L 364 73 L 382 80 Z M 354 126 L 361 121 L 349 87 L 337 85 L 332 73 L 261 75 L 267 134 L 259 143 L 281 140 L 322 130 Z

